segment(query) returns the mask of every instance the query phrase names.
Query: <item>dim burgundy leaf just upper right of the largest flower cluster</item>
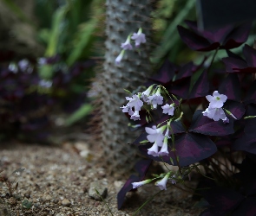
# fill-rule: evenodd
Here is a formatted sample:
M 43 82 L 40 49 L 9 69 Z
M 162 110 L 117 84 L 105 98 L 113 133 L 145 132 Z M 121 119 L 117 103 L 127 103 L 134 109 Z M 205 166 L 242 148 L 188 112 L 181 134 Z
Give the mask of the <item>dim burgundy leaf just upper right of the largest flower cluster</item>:
M 168 92 L 173 93 L 174 95 L 187 99 L 187 94 L 189 92 L 190 86 L 190 78 L 182 79 L 181 81 L 177 81 L 173 83 L 173 86 L 169 86 L 167 88 Z

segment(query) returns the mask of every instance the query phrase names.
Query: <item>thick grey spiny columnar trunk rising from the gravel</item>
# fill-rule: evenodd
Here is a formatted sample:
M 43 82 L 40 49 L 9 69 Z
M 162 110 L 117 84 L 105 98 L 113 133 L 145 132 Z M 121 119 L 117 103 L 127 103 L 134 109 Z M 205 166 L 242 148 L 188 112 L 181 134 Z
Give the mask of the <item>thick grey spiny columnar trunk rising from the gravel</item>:
M 110 171 L 125 174 L 135 164 L 136 148 L 128 145 L 135 139 L 135 132 L 128 129 L 128 118 L 120 107 L 126 104 L 123 89 L 135 90 L 151 73 L 149 54 L 152 34 L 151 0 L 107 0 L 106 2 L 106 53 L 101 83 L 101 139 L 104 160 Z M 115 58 L 121 52 L 121 42 L 128 35 L 142 28 L 147 43 L 141 44 L 140 54 L 127 50 L 119 65 Z

